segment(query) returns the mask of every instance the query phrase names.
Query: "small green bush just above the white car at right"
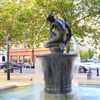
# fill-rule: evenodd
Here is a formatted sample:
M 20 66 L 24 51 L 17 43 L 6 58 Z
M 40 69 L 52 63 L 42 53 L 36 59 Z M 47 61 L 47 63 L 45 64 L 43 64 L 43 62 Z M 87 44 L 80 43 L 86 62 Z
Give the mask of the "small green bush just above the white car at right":
M 81 59 L 91 59 L 94 56 L 94 51 L 93 50 L 88 50 L 88 51 L 83 51 L 83 50 L 79 50 L 80 53 L 80 57 Z

